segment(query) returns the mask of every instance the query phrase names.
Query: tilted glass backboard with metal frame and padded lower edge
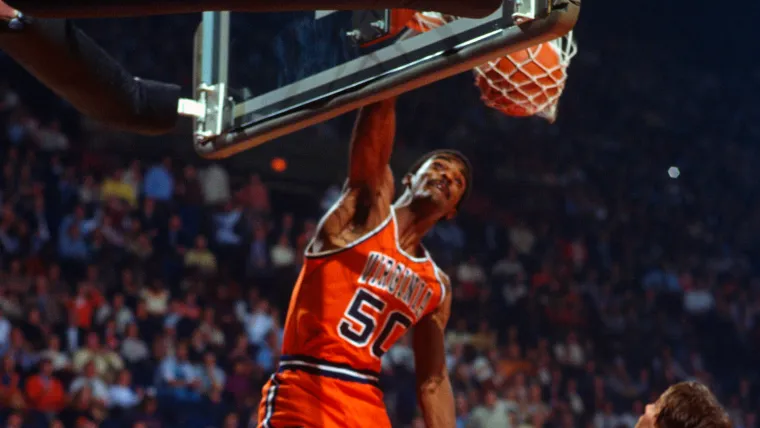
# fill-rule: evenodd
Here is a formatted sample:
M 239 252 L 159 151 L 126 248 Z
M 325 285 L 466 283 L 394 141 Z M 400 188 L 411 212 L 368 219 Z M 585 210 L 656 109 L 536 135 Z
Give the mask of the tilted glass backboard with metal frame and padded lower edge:
M 270 0 L 235 1 L 270 4 Z M 317 3 L 320 1 L 337 0 L 318 0 Z M 297 36 L 275 26 L 271 28 L 276 32 L 273 36 L 283 34 L 273 37 L 277 40 L 275 45 L 264 48 L 258 44 L 249 47 L 247 42 L 250 28 L 262 27 L 262 22 L 257 20 L 260 15 L 205 12 L 194 40 L 193 86 L 199 89 L 190 100 L 199 105 L 182 111 L 183 115 L 194 118 L 196 152 L 206 158 L 229 157 L 351 110 L 472 70 L 487 61 L 567 34 L 575 26 L 580 11 L 580 0 L 443 2 L 469 8 L 482 1 L 500 4 L 483 18 L 455 19 L 464 18 L 466 13 L 450 8 L 442 10 L 435 5 L 425 7 L 424 2 L 416 0 L 382 0 L 374 6 L 388 1 L 413 4 L 420 10 L 437 9 L 438 15 L 423 14 L 431 18 L 427 21 L 433 22 L 423 22 L 422 25 L 432 28 L 436 25 L 436 18 L 446 25 L 416 37 L 406 37 L 416 33 L 404 30 L 416 11 L 320 12 L 314 14 L 318 25 L 303 26 L 301 18 L 295 16 L 285 19 L 283 24 L 288 28 L 299 28 L 295 32 Z M 425 1 L 433 4 L 442 0 Z M 293 5 L 288 3 L 285 7 Z M 515 14 L 530 18 L 527 25 L 519 24 Z M 229 19 L 224 18 L 225 15 L 229 15 Z M 402 25 L 397 27 L 394 21 Z M 306 33 L 300 29 L 309 36 L 301 37 Z M 399 29 L 405 34 L 396 34 Z M 284 33 L 288 37 L 280 37 Z M 395 35 L 399 37 L 393 43 L 376 43 Z M 355 43 L 366 48 L 347 46 Z M 262 55 L 259 52 L 262 48 L 274 49 L 273 55 Z M 319 55 L 305 54 L 311 51 Z M 263 61 L 264 57 L 270 56 L 276 62 L 271 67 Z M 284 59 L 288 61 L 287 67 L 280 64 Z M 256 67 L 271 75 L 267 82 L 262 82 L 261 73 L 252 71 Z M 228 68 L 239 71 L 230 69 L 231 74 L 227 75 Z M 510 75 L 508 68 L 505 74 Z M 503 78 L 498 74 L 487 77 L 487 80 L 480 79 L 482 88 L 502 84 Z M 201 84 L 204 84 L 203 90 L 200 90 Z M 231 97 L 229 88 L 252 88 L 252 91 L 244 96 Z M 521 89 L 530 90 L 527 87 Z M 487 92 L 489 98 L 498 98 L 489 105 L 508 102 L 508 98 L 498 91 Z

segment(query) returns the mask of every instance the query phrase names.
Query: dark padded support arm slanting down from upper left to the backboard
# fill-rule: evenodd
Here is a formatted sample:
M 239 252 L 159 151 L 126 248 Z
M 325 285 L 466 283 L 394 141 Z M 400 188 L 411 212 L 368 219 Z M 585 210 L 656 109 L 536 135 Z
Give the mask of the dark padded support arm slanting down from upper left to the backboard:
M 71 20 L 26 20 L 0 0 L 0 50 L 101 123 L 144 135 L 176 126 L 180 87 L 136 79 Z

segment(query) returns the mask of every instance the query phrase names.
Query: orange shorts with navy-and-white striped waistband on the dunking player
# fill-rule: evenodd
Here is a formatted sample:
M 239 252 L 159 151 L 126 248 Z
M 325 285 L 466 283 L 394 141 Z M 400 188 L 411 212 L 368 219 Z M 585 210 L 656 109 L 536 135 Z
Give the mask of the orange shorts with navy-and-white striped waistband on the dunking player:
M 293 358 L 264 385 L 260 428 L 390 428 L 376 374 Z

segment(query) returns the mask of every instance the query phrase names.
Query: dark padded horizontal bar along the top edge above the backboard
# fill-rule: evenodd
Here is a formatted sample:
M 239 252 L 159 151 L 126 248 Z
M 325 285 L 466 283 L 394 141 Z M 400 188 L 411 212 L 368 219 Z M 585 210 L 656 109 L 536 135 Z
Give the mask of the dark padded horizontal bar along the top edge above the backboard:
M 44 18 L 104 18 L 196 13 L 300 10 L 415 9 L 468 18 L 488 16 L 502 0 L 7 0 L 23 13 Z

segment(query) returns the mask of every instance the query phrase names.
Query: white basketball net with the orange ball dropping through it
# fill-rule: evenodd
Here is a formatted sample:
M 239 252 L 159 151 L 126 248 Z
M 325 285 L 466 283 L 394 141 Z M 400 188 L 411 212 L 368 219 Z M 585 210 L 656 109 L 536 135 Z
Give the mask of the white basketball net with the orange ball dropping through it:
M 529 20 L 518 16 L 522 21 Z M 419 12 L 408 24 L 425 32 L 457 17 Z M 539 116 L 554 122 L 567 82 L 567 67 L 578 52 L 573 33 L 531 46 L 475 67 L 475 85 L 483 102 L 509 116 Z

